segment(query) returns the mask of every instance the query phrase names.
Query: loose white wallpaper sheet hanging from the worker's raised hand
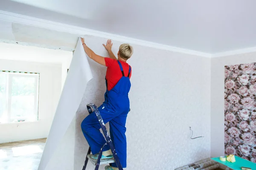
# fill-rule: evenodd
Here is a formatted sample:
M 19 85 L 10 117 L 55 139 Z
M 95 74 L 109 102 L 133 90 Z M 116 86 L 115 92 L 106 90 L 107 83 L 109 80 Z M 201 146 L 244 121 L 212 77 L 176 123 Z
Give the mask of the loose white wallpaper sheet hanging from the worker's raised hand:
M 93 74 L 79 38 L 38 170 L 46 168 L 79 108 L 87 82 L 92 78 Z

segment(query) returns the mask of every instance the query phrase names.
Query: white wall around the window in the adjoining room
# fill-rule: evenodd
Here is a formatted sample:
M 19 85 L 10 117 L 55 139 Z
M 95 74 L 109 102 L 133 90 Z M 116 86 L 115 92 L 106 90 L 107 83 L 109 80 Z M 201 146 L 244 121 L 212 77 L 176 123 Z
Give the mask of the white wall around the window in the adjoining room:
M 0 70 L 40 73 L 39 120 L 0 124 L 0 143 L 46 138 L 61 94 L 61 64 L 0 59 Z

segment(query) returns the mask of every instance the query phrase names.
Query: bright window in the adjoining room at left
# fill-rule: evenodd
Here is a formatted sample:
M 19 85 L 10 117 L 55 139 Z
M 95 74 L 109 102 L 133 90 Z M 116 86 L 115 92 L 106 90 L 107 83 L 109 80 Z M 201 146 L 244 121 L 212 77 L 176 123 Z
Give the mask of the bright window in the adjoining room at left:
M 0 123 L 38 120 L 38 73 L 0 71 Z

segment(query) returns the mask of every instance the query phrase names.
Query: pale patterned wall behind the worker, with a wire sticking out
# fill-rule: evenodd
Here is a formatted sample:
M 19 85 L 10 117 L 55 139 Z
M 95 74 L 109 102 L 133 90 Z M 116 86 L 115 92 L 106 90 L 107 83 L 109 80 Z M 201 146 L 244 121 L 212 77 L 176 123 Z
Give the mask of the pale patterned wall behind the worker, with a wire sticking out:
M 107 56 L 102 46 L 106 41 L 85 37 L 87 45 L 102 56 Z M 120 44 L 113 41 L 114 54 Z M 132 87 L 129 93 L 131 112 L 126 125 L 127 170 L 175 169 L 209 157 L 210 59 L 140 45 L 133 47 L 134 55 L 128 60 L 132 66 Z M 106 68 L 89 62 L 93 79 L 88 82 L 74 124 L 67 130 L 47 170 L 70 167 L 80 170 L 84 163 L 88 144 L 80 125 L 88 115 L 86 104 L 100 105 L 105 92 Z M 204 138 L 190 139 L 190 126 L 195 136 Z M 90 162 L 88 166 L 93 169 Z M 100 170 L 103 169 L 101 166 Z

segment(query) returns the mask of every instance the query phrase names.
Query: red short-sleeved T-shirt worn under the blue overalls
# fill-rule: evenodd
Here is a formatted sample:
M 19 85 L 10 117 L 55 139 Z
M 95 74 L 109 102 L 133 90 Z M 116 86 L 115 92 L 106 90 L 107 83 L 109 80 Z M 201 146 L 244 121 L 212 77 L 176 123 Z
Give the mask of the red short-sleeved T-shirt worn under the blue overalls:
M 124 70 L 125 77 L 127 77 L 129 73 L 129 65 L 126 62 L 123 62 L 123 61 L 120 61 L 120 62 Z M 106 63 L 106 66 L 108 67 L 107 73 L 106 73 L 106 79 L 108 82 L 108 91 L 110 91 L 117 84 L 119 79 L 121 79 L 122 72 L 116 59 L 105 57 L 105 63 Z M 131 78 L 131 73 L 129 78 Z

